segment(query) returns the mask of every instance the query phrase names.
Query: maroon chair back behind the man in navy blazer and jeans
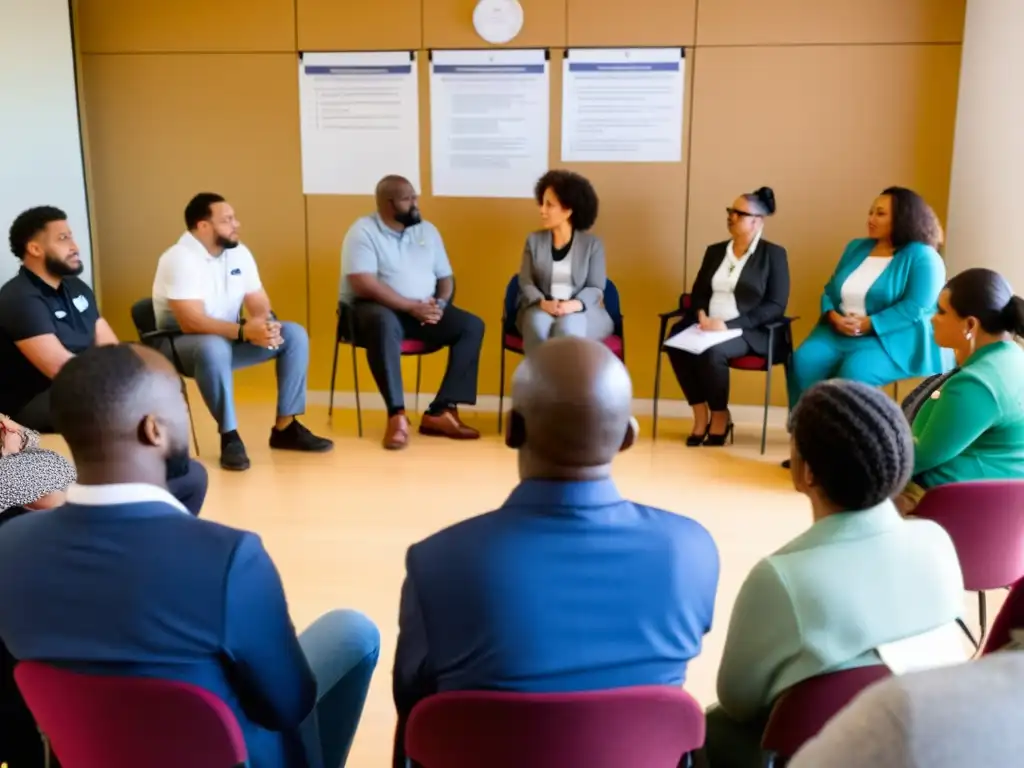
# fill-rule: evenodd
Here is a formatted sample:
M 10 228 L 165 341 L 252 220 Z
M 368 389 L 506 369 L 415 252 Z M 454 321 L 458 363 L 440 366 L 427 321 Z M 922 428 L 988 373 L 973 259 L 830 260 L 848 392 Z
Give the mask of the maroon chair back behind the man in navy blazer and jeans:
M 14 679 L 67 768 L 241 768 L 246 743 L 227 705 L 203 688 L 81 675 L 22 662 Z

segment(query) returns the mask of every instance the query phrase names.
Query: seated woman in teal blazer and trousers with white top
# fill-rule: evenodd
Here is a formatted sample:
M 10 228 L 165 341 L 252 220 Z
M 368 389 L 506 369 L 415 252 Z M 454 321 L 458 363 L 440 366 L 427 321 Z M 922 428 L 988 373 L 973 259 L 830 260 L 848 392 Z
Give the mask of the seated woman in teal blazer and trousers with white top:
M 891 186 L 871 206 L 867 231 L 846 247 L 821 296 L 821 319 L 794 354 L 791 407 L 824 379 L 882 386 L 949 368 L 929 322 L 946 280 L 935 213 L 918 194 Z

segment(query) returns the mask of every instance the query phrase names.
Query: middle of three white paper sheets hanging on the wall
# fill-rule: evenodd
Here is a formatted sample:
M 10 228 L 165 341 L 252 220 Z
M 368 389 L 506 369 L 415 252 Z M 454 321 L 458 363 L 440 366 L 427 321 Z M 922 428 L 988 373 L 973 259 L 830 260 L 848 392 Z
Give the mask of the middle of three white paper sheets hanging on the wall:
M 430 66 L 432 191 L 532 198 L 548 170 L 545 50 L 435 50 Z

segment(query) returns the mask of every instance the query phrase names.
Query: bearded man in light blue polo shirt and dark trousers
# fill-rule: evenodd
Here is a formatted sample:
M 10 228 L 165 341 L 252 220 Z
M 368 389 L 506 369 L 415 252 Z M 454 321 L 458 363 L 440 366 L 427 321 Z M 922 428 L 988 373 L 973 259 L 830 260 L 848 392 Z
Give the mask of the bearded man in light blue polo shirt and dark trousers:
M 459 406 L 476 402 L 483 321 L 451 304 L 452 265 L 440 232 L 420 216 L 408 179 L 385 176 L 377 184 L 377 213 L 349 228 L 341 248 L 342 303 L 351 307 L 355 335 L 388 411 L 384 447 L 409 444 L 401 342 L 449 347 L 437 397 L 420 421 L 420 434 L 476 439 L 459 418 Z

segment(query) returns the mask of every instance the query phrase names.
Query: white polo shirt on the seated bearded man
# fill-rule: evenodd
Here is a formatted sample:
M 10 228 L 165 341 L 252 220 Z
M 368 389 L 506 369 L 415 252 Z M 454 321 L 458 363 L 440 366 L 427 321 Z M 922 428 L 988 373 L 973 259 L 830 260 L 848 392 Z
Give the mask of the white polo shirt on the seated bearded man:
M 185 232 L 157 264 L 153 281 L 153 308 L 160 329 L 177 328 L 170 301 L 200 299 L 210 317 L 234 323 L 246 294 L 259 291 L 256 260 L 241 243 L 211 256 L 206 246 Z

